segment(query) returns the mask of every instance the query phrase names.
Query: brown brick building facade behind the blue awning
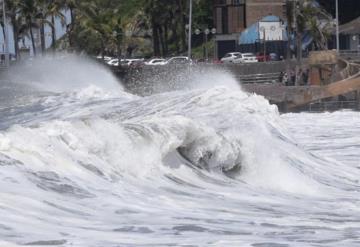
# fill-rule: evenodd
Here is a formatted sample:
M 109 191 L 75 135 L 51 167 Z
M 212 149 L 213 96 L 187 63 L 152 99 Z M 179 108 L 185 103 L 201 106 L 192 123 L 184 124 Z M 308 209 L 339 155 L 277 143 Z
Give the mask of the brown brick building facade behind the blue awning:
M 286 0 L 214 0 L 216 58 L 238 50 L 240 33 L 267 15 L 285 19 Z

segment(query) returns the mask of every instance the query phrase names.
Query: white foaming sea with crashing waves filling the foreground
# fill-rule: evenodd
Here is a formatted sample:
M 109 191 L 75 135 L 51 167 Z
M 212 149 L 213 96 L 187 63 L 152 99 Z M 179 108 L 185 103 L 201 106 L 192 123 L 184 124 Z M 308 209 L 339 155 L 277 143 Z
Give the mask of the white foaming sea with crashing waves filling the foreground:
M 359 112 L 281 115 L 219 71 L 139 96 L 45 64 L 0 86 L 0 246 L 360 245 Z

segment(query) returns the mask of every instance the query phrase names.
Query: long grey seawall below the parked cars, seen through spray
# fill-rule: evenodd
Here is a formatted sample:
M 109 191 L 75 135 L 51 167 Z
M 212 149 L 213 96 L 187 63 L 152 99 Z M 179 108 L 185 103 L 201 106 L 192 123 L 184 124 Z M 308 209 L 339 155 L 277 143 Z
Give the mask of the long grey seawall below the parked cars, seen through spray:
M 286 67 L 285 61 L 278 61 L 253 64 L 203 63 L 192 66 L 178 64 L 129 68 L 112 67 L 112 71 L 122 80 L 129 91 L 140 95 L 149 95 L 160 91 L 160 88 L 163 90 L 164 85 L 170 86 L 169 90 L 180 89 L 197 75 L 229 73 L 241 83 L 241 76 L 280 73 L 285 71 Z

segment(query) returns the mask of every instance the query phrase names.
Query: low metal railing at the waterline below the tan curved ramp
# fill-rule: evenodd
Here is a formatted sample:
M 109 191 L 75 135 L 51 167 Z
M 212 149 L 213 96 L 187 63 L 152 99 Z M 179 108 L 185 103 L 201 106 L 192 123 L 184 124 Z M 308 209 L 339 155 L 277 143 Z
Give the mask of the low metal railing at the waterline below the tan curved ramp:
M 309 104 L 308 111 L 310 112 L 324 112 L 324 111 L 338 111 L 343 109 L 360 110 L 359 101 L 327 101 L 314 102 Z

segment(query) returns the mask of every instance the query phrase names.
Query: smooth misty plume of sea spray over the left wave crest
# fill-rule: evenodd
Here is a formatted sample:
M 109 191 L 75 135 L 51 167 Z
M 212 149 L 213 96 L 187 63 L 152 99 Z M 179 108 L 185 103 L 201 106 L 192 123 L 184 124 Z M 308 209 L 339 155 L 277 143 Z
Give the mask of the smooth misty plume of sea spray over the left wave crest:
M 69 92 L 89 86 L 107 93 L 123 91 L 119 80 L 105 65 L 94 59 L 72 54 L 33 58 L 12 68 L 9 80 L 40 91 Z

